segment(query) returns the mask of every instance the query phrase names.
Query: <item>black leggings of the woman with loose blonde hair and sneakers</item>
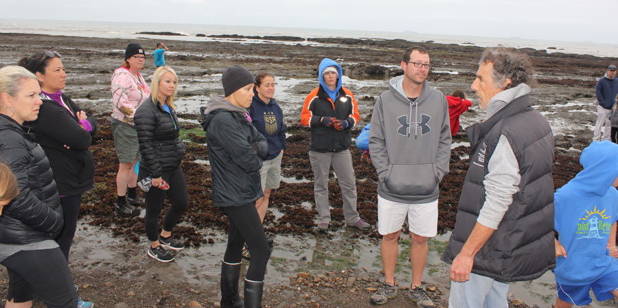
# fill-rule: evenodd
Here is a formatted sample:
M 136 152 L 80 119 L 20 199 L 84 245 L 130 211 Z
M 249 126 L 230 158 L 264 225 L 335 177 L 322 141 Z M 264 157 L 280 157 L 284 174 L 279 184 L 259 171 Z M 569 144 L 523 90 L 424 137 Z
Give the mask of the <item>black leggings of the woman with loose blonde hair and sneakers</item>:
M 172 228 L 176 226 L 179 218 L 189 205 L 187 180 L 185 180 L 185 174 L 183 174 L 181 167 L 172 171 L 164 171 L 161 178 L 168 182 L 170 185 L 169 190 L 150 187 L 150 191 L 144 193 L 144 197 L 146 197 L 146 218 L 144 224 L 146 225 L 148 241 L 157 241 L 159 239 L 159 214 L 161 214 L 161 209 L 163 209 L 163 201 L 166 194 L 170 198 L 172 206 L 165 213 L 165 218 L 163 219 L 163 230 L 165 231 L 172 231 Z

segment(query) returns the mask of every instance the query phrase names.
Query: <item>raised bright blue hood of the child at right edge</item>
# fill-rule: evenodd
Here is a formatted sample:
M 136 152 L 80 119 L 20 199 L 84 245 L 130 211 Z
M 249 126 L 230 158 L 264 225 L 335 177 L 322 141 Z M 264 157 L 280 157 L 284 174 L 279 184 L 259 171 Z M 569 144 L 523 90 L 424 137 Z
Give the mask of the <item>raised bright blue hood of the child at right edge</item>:
M 618 144 L 594 141 L 582 151 L 580 163 L 584 170 L 569 184 L 584 195 L 604 196 L 618 178 Z

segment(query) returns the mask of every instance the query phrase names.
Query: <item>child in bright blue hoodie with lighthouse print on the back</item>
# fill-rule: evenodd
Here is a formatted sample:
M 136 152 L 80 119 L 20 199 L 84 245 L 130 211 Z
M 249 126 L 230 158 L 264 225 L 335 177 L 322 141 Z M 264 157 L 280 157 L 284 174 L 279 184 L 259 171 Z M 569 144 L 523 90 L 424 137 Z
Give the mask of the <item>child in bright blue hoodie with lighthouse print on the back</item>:
M 618 299 L 618 145 L 595 141 L 582 151 L 584 170 L 556 191 L 556 308 Z

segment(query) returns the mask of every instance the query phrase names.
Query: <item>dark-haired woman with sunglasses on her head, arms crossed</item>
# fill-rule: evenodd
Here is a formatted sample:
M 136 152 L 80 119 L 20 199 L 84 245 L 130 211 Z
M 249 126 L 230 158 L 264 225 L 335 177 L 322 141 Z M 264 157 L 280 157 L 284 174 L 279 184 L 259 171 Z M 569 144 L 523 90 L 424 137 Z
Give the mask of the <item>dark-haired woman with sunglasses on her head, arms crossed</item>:
M 88 147 L 97 129 L 97 120 L 62 94 L 67 74 L 58 52 L 39 52 L 21 58 L 18 64 L 34 73 L 41 86 L 39 97 L 43 104 L 38 118 L 25 125 L 33 128 L 36 141 L 45 150 L 54 171 L 65 219 L 56 241 L 68 261 L 82 193 L 94 186 L 94 158 Z

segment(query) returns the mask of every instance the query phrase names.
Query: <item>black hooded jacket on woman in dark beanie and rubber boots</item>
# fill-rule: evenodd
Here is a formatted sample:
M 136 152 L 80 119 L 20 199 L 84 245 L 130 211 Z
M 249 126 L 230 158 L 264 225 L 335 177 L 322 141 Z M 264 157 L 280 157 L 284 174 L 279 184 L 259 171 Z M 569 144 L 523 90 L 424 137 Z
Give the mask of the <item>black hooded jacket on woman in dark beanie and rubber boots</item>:
M 262 198 L 260 168 L 268 155 L 266 138 L 247 120 L 244 108 L 221 96 L 213 95 L 201 112 L 212 174 L 212 204 L 242 206 Z

